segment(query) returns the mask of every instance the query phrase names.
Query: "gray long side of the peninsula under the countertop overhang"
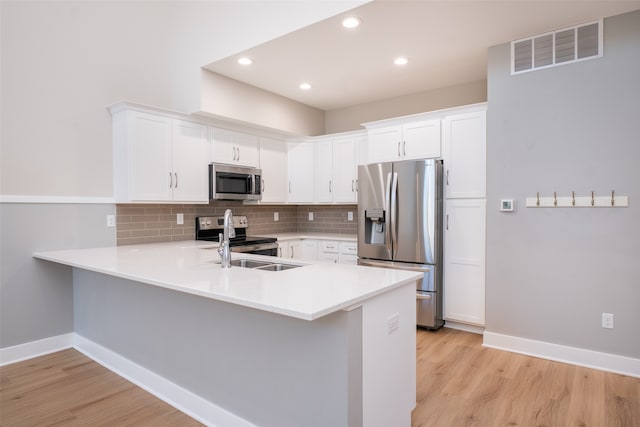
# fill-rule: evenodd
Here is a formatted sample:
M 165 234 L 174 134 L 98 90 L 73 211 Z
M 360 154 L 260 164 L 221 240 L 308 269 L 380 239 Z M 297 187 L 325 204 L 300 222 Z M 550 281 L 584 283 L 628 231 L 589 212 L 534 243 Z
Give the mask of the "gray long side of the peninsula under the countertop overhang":
M 76 333 L 233 414 L 359 425 L 361 309 L 309 322 L 79 269 L 73 286 Z

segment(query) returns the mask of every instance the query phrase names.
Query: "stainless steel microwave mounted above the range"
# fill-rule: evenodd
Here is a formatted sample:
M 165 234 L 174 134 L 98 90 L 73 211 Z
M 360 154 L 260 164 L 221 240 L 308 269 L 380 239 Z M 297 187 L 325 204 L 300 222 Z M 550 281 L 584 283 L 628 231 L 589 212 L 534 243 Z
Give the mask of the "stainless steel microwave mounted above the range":
M 262 170 L 209 164 L 210 200 L 262 200 Z

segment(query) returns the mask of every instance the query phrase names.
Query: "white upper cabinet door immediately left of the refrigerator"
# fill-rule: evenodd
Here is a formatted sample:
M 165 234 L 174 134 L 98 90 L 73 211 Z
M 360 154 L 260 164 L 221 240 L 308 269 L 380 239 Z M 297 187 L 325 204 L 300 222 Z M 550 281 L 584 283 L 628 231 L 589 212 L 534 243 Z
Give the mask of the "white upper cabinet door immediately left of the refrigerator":
M 357 197 L 357 143 L 355 138 L 333 141 L 333 201 L 356 203 Z

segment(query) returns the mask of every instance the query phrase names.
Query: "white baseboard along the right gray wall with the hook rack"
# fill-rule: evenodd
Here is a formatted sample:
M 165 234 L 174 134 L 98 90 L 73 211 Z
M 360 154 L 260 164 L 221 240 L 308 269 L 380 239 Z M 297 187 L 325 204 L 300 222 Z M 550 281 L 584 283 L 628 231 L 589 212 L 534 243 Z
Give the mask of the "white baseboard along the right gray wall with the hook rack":
M 510 335 L 484 333 L 485 347 L 640 378 L 640 359 Z

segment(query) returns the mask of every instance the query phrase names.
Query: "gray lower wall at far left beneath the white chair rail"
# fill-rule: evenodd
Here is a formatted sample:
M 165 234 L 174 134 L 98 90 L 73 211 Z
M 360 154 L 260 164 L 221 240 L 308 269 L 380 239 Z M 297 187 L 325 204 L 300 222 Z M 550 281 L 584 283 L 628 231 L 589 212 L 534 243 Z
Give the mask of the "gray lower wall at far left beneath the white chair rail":
M 115 245 L 113 205 L 0 204 L 0 348 L 73 332 L 69 267 L 36 251 Z

